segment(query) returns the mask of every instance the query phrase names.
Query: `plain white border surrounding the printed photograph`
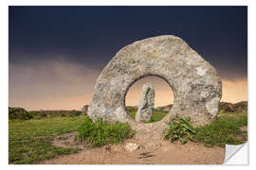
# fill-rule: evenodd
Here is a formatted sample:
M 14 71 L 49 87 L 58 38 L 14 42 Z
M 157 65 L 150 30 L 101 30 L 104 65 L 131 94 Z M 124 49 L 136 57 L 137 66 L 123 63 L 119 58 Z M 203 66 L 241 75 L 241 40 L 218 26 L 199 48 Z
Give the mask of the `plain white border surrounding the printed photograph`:
M 170 1 L 170 0 L 169 0 Z M 172 0 L 172 2 L 169 1 L 163 1 L 163 0 L 148 0 L 148 1 L 138 1 L 138 0 L 94 0 L 94 1 L 84 1 L 82 0 L 73 0 L 73 1 L 67 1 L 67 0 L 41 0 L 35 1 L 35 0 L 6 0 L 1 1 L 1 8 L 0 8 L 0 21 L 1 21 L 1 31 L 0 31 L 0 47 L 1 47 L 1 56 L 0 56 L 0 68 L 1 68 L 1 166 L 4 165 L 7 168 L 28 168 L 28 169 L 46 169 L 46 168 L 56 168 L 55 165 L 47 165 L 46 166 L 29 166 L 29 165 L 23 165 L 23 166 L 17 166 L 17 165 L 8 165 L 8 114 L 7 114 L 7 107 L 8 107 L 8 6 L 248 6 L 248 103 L 249 103 L 249 130 L 250 131 L 256 131 L 255 123 L 256 121 L 256 105 L 254 104 L 254 101 L 256 101 L 256 80 L 254 78 L 256 73 L 256 53 L 255 53 L 255 45 L 256 45 L 256 8 L 255 8 L 255 1 L 254 0 Z M 106 3 L 107 2 L 107 3 Z M 147 3 L 145 3 L 147 2 Z M 254 95 L 253 95 L 254 94 Z M 254 123 L 254 124 L 253 124 Z M 146 168 L 149 169 L 155 169 L 156 167 L 163 168 L 163 169 L 184 169 L 184 167 L 190 168 L 190 169 L 205 169 L 207 168 L 230 168 L 230 169 L 241 169 L 241 168 L 253 168 L 255 169 L 256 164 L 256 157 L 255 154 L 252 155 L 253 152 L 256 151 L 255 146 L 255 133 L 249 133 L 249 164 L 250 166 L 183 166 L 183 165 L 175 165 L 175 166 L 164 166 L 164 165 L 158 165 L 158 166 L 146 166 Z M 254 166 L 254 167 L 253 167 Z M 79 166 L 74 165 L 72 167 L 70 166 L 58 166 L 57 168 L 62 169 L 70 169 L 70 168 L 106 168 L 106 169 L 131 169 L 131 168 L 140 168 L 142 166 L 95 166 L 95 165 L 86 165 L 86 166 Z M 143 166 L 144 167 L 144 166 Z M 5 168 L 5 167 L 3 167 Z

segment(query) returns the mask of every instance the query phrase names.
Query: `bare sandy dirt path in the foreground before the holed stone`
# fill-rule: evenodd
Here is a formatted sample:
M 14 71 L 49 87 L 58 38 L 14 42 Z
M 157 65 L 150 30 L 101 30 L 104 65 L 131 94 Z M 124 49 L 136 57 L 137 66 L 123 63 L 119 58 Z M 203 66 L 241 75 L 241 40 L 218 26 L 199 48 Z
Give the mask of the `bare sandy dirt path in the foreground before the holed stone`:
M 69 146 L 75 133 L 64 134 L 54 141 L 54 145 Z M 127 151 L 126 144 L 138 144 L 139 148 Z M 221 164 L 225 159 L 225 148 L 206 147 L 204 144 L 171 144 L 165 141 L 130 139 L 123 144 L 86 148 L 77 145 L 82 151 L 64 155 L 42 164 Z

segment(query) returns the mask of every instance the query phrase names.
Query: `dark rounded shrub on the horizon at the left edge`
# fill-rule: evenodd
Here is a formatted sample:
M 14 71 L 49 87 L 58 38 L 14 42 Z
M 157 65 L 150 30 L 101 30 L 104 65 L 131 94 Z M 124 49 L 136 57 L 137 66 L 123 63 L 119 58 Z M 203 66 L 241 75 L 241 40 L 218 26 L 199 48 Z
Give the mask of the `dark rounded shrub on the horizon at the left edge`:
M 23 108 L 10 108 L 9 107 L 9 120 L 21 119 L 28 120 L 31 119 L 32 115 Z

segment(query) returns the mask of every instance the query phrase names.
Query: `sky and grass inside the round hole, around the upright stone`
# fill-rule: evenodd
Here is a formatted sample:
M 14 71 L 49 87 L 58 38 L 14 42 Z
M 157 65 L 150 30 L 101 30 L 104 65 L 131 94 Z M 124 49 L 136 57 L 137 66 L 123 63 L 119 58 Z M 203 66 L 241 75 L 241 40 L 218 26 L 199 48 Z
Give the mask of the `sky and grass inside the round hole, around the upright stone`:
M 155 104 L 150 120 L 144 123 L 154 123 L 161 120 L 172 109 L 174 94 L 172 88 L 163 78 L 159 76 L 144 76 L 138 79 L 128 90 L 125 96 L 125 107 L 127 113 L 136 120 L 137 107 L 141 98 L 142 87 L 151 83 L 155 89 Z M 141 107 L 140 107 L 141 108 Z

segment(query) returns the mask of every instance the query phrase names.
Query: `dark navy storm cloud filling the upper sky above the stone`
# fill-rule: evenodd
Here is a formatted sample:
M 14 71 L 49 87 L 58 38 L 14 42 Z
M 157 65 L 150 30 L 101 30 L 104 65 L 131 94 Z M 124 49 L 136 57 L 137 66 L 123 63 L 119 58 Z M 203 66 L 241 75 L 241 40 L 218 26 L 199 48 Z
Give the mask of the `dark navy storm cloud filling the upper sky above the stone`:
M 101 70 L 121 47 L 174 34 L 223 78 L 247 76 L 247 7 L 10 7 L 9 62 Z

